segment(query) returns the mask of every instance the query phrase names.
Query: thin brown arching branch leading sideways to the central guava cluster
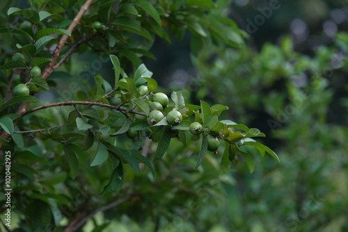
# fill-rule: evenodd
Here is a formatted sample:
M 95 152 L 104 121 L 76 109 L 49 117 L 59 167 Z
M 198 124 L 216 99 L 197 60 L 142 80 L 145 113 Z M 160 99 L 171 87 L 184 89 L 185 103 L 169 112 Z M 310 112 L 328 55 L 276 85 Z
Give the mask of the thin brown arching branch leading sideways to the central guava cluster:
M 111 106 L 105 103 L 101 103 L 101 102 L 93 102 L 93 101 L 62 101 L 62 102 L 56 102 L 56 103 L 52 103 L 52 104 L 48 104 L 45 106 L 38 106 L 35 108 L 32 108 L 30 110 L 26 110 L 24 111 L 22 114 L 20 114 L 22 117 L 24 117 L 25 115 L 29 115 L 30 113 L 33 113 L 37 110 L 43 110 L 46 108 L 50 108 L 50 107 L 55 107 L 55 106 L 76 106 L 76 105 L 86 105 L 86 106 L 101 106 L 101 107 L 106 107 L 106 108 L 111 108 L 113 110 L 118 110 L 121 112 L 128 112 L 128 113 L 134 113 L 136 115 L 143 115 L 146 116 L 145 113 L 141 113 L 141 112 L 137 112 L 134 110 L 127 110 L 126 108 L 121 108 L 120 106 Z

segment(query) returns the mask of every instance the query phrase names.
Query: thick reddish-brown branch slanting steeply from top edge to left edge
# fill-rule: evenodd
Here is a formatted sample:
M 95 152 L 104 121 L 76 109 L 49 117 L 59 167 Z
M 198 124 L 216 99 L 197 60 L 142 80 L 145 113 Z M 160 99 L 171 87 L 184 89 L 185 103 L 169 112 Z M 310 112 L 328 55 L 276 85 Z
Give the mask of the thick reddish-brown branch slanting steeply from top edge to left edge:
M 81 9 L 79 10 L 79 13 L 77 13 L 77 15 L 74 17 L 74 19 L 72 20 L 72 23 L 70 24 L 70 26 L 68 27 L 68 30 L 67 30 L 67 31 L 69 31 L 70 34 L 72 33 L 72 31 L 74 31 L 74 28 L 79 24 L 81 18 L 84 16 L 84 13 L 86 13 L 86 11 L 90 7 L 90 5 L 93 3 L 93 1 L 94 0 L 87 0 L 86 3 L 84 3 L 84 6 L 82 6 Z M 68 38 L 69 38 L 68 35 L 63 35 L 61 37 L 61 40 L 59 40 L 56 49 L 52 53 L 52 61 L 50 61 L 48 63 L 47 67 L 42 72 L 42 74 L 40 76 L 41 78 L 47 79 L 47 77 L 50 74 L 52 74 L 52 72 L 54 71 L 54 64 L 56 63 L 56 60 L 57 60 L 59 54 L 61 53 L 61 49 L 64 47 L 64 44 L 68 40 Z M 16 113 L 19 115 L 22 115 L 22 113 L 24 113 L 26 111 L 26 108 L 28 108 L 28 106 L 29 106 L 29 102 L 22 103 Z M 15 122 L 13 126 L 15 127 L 18 122 L 19 122 L 19 120 L 17 122 Z M 3 133 L 1 133 L 0 138 L 7 140 L 9 136 L 10 135 L 8 133 L 3 131 Z M 0 142 L 0 148 L 2 147 L 2 145 L 3 145 L 3 142 Z

